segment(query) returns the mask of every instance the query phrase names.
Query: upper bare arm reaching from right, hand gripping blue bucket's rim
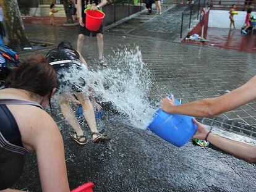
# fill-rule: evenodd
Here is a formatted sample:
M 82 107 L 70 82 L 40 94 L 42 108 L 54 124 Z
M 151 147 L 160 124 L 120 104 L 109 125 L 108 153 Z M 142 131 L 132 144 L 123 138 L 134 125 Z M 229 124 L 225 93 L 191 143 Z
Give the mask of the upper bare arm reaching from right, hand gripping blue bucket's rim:
M 166 97 L 161 101 L 161 108 L 171 114 L 212 117 L 242 106 L 255 98 L 256 76 L 236 90 L 216 98 L 200 99 L 176 106 L 174 98 Z

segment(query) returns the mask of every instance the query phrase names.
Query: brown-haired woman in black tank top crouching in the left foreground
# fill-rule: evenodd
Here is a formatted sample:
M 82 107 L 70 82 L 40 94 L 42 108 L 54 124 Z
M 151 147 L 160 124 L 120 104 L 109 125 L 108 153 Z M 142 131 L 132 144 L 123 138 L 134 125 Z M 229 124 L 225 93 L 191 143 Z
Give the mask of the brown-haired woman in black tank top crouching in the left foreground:
M 53 67 L 38 55 L 7 77 L 0 90 L 0 190 L 22 175 L 25 155 L 35 151 L 42 191 L 70 191 L 59 128 L 43 109 L 56 91 Z

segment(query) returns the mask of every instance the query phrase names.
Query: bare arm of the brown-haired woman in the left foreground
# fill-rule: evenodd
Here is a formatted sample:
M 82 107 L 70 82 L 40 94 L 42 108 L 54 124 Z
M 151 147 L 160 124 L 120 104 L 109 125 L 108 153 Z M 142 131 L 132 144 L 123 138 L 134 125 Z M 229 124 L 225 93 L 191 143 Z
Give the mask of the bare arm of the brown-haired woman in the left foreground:
M 35 120 L 33 127 L 32 146 L 36 152 L 42 191 L 70 191 L 64 144 L 58 126 L 42 111 L 40 120 Z

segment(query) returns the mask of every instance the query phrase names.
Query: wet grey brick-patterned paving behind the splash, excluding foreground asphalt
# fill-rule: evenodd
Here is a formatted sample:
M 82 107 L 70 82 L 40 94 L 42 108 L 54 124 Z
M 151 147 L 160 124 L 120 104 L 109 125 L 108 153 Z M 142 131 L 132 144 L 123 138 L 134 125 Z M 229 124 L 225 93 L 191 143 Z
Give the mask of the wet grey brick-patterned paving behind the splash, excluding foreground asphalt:
M 166 17 L 163 14 L 156 19 L 164 20 Z M 145 25 L 150 26 L 150 30 L 157 31 L 160 26 L 156 25 L 153 28 L 153 23 L 155 23 L 154 19 Z M 145 26 L 142 27 L 145 28 Z M 171 28 L 171 26 L 168 27 Z M 69 40 L 76 44 L 76 27 L 25 25 L 25 28 L 30 40 L 50 44 Z M 150 65 L 156 81 L 156 87 L 152 88 L 151 92 L 153 99 L 160 100 L 161 95 L 166 91 L 171 91 L 177 98 L 181 98 L 182 102 L 218 96 L 226 90 L 237 88 L 255 75 L 255 54 L 173 43 L 161 36 L 158 38 L 147 36 L 145 30 L 137 30 L 137 35 L 126 34 L 126 36 L 116 32 L 106 32 L 104 37 L 105 54 L 113 54 L 112 48 L 120 45 L 140 46 L 143 61 Z M 49 46 L 42 52 L 45 53 L 51 48 L 53 47 Z M 93 61 L 97 57 L 95 38 L 87 38 L 83 50 L 83 56 Z M 27 55 L 29 56 L 30 53 Z M 162 91 L 156 92 L 156 88 Z M 238 120 L 245 125 L 256 125 L 255 109 L 256 102 L 251 102 L 219 117 Z

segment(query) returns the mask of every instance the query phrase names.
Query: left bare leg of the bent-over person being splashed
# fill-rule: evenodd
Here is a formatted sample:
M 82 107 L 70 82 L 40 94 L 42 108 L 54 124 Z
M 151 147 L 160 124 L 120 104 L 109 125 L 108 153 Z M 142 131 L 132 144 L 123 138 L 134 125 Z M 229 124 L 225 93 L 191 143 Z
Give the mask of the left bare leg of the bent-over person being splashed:
M 83 135 L 83 130 L 79 125 L 79 122 L 77 121 L 74 111 L 72 111 L 69 100 L 66 99 L 66 94 L 62 94 L 60 96 L 59 105 L 61 107 L 62 114 L 66 118 L 66 120 L 70 123 L 71 127 L 74 128 L 75 133 L 77 133 L 78 136 Z M 85 138 L 82 138 L 81 141 L 85 140 Z

